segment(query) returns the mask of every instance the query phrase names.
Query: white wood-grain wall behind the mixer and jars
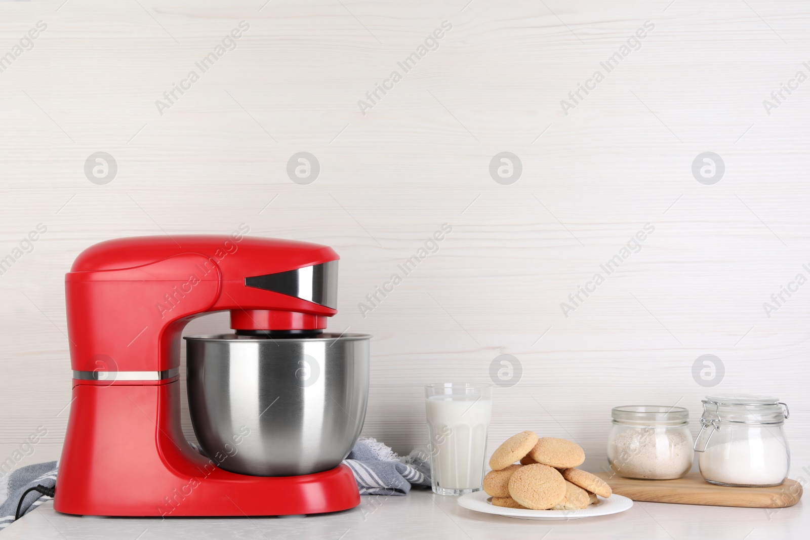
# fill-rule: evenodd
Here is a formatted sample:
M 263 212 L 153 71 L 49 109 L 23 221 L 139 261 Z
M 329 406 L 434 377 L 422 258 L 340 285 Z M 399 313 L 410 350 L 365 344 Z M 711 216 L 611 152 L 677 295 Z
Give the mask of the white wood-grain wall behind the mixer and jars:
M 509 354 L 522 379 L 495 391 L 490 450 L 533 428 L 578 440 L 598 469 L 612 406 L 687 406 L 697 432 L 706 393 L 757 392 L 791 406 L 795 474 L 810 465 L 810 285 L 762 306 L 810 277 L 810 82 L 763 105 L 810 74 L 806 2 L 62 2 L 0 2 L 0 55 L 47 24 L 0 73 L 0 257 L 47 227 L 0 275 L 0 461 L 38 426 L 17 466 L 59 456 L 63 274 L 82 249 L 247 223 L 340 253 L 330 328 L 375 336 L 364 434 L 401 453 L 424 442 L 421 385 L 489 381 Z M 243 20 L 237 48 L 161 115 L 156 100 Z M 117 162 L 106 185 L 83 170 L 98 151 Z M 309 185 L 286 173 L 299 151 L 320 163 Z M 489 173 L 503 151 L 522 161 L 511 185 Z M 693 177 L 705 151 L 725 164 L 714 185 Z M 442 223 L 439 251 L 362 317 Z M 565 317 L 646 223 L 641 251 Z M 188 332 L 226 329 L 215 315 Z M 704 354 L 725 366 L 713 389 L 693 379 Z

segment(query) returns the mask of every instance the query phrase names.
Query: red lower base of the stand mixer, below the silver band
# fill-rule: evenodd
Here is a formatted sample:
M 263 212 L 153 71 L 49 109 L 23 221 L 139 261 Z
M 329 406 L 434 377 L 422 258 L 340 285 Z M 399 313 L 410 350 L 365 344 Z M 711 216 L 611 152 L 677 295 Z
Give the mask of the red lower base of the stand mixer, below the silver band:
M 53 508 L 84 516 L 286 516 L 360 504 L 352 470 L 249 476 L 214 466 L 185 442 L 177 379 L 76 384 Z M 79 414 L 79 411 L 82 414 Z

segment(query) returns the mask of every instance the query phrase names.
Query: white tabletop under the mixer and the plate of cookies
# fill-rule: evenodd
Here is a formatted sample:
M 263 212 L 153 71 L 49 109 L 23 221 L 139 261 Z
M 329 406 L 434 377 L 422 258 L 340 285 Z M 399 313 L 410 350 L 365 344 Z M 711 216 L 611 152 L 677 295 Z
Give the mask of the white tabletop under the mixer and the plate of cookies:
M 114 495 L 113 495 L 114 496 Z M 53 511 L 53 503 L 10 525 L 4 540 L 203 540 L 205 538 L 621 538 L 644 540 L 774 540 L 807 538 L 810 512 L 799 501 L 791 508 L 725 508 L 687 504 L 635 503 L 620 514 L 570 521 L 529 521 L 461 508 L 455 497 L 411 491 L 405 497 L 364 496 L 347 512 L 307 517 L 159 519 L 75 517 Z

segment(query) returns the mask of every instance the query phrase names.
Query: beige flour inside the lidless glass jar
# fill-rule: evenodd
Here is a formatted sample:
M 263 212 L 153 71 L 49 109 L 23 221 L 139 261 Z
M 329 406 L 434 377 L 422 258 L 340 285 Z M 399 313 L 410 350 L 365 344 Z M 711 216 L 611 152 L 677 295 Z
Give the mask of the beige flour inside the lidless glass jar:
M 612 440 L 611 469 L 627 478 L 680 478 L 692 467 L 691 437 L 683 432 L 639 427 L 625 429 Z

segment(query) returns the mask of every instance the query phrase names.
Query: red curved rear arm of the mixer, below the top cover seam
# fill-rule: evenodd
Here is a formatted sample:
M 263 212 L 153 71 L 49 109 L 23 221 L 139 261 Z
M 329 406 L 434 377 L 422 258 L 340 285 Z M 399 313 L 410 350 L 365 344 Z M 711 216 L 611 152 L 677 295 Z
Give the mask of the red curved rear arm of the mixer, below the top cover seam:
M 199 253 L 122 270 L 66 275 L 74 371 L 162 372 L 180 365 L 183 327 L 212 310 L 221 272 Z

